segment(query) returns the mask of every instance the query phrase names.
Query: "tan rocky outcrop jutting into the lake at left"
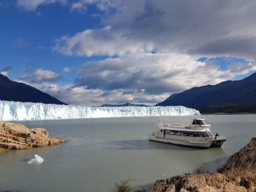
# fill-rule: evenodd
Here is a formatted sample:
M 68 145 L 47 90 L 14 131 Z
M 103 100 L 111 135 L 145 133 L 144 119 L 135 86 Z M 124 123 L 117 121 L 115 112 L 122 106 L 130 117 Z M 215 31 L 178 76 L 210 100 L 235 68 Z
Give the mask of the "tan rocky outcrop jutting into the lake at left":
M 0 121 L 0 154 L 12 149 L 46 147 L 65 142 L 49 137 L 49 132 L 43 128 L 28 129 L 24 125 Z

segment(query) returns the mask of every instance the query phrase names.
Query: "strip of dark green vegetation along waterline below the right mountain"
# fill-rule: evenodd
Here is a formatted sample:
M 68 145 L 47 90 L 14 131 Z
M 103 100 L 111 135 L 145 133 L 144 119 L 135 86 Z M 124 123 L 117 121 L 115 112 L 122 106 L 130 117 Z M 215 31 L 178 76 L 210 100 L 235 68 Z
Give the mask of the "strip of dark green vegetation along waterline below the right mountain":
M 198 108 L 200 113 L 256 113 L 256 104 L 222 104 Z

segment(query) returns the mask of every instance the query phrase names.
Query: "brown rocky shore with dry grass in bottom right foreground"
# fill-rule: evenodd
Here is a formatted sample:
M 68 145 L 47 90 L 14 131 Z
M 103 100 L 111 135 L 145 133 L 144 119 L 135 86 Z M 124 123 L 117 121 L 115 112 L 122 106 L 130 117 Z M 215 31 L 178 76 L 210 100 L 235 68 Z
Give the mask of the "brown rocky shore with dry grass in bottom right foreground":
M 256 191 L 256 138 L 217 171 L 157 180 L 146 192 Z

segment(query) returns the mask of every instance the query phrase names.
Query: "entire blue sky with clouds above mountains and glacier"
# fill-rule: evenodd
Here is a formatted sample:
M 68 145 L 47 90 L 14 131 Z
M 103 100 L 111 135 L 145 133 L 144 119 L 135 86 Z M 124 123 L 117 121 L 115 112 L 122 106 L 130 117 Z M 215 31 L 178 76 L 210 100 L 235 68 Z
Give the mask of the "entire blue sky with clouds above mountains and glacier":
M 0 0 L 0 73 L 72 105 L 154 105 L 256 71 L 256 1 Z

